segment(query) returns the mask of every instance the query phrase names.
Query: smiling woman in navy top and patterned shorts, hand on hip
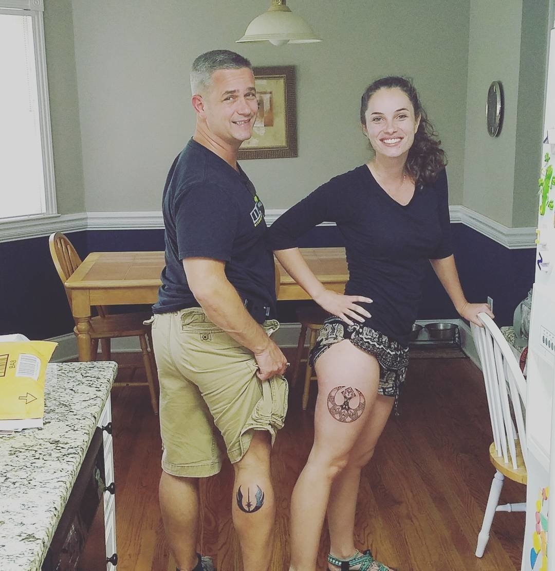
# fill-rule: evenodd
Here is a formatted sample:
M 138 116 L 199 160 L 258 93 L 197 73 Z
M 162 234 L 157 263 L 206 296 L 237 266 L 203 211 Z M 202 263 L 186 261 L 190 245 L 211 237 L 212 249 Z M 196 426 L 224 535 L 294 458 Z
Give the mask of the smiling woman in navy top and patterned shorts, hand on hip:
M 361 468 L 371 459 L 399 396 L 408 335 L 428 260 L 459 314 L 479 324 L 485 304 L 465 299 L 452 255 L 445 154 L 414 86 L 386 77 L 362 96 L 360 122 L 374 151 L 270 227 L 276 256 L 331 315 L 310 355 L 318 376 L 314 444 L 291 497 L 291 571 L 315 569 L 327 510 L 330 570 L 387 571 L 354 545 Z M 349 264 L 345 295 L 315 278 L 295 247 L 309 228 L 334 221 Z

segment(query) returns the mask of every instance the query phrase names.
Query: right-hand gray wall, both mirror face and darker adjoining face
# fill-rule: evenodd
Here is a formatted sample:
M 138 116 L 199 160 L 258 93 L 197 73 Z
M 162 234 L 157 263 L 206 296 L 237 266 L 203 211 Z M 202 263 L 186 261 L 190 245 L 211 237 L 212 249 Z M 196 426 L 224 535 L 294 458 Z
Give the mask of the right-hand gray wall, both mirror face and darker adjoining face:
M 464 206 L 508 227 L 535 226 L 549 0 L 471 0 Z M 501 134 L 485 128 L 492 81 L 503 83 Z

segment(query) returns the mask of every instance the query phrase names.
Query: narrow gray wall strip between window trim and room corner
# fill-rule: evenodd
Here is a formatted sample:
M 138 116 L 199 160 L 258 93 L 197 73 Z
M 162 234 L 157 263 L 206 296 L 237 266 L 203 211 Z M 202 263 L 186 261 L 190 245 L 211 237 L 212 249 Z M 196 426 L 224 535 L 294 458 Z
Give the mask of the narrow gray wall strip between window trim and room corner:
M 71 0 L 44 2 L 44 43 L 58 212 L 85 210 Z

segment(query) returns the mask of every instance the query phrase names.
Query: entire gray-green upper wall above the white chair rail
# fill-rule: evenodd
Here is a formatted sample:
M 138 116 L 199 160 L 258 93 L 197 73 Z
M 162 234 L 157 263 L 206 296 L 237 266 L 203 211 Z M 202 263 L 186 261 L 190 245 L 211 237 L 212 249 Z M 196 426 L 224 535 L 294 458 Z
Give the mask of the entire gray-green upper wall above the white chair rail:
M 44 27 L 58 211 L 158 211 L 169 164 L 194 127 L 188 71 L 226 47 L 254 65 L 297 67 L 299 156 L 242 163 L 268 208 L 286 208 L 367 160 L 360 93 L 414 78 L 448 152 L 451 204 L 508 227 L 536 223 L 550 0 L 290 0 L 320 44 L 237 45 L 260 0 L 46 0 Z M 206 5 L 208 4 L 208 6 Z M 346 7 L 345 7 L 346 6 Z M 503 82 L 501 136 L 485 131 Z M 466 144 L 465 144 L 466 142 Z

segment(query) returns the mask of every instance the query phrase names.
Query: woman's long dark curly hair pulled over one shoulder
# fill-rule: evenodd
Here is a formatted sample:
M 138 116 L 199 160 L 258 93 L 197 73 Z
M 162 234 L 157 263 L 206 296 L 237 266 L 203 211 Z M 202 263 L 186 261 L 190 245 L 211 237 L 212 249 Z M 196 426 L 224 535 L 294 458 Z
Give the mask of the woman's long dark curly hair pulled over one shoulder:
M 441 169 L 447 164 L 447 156 L 440 147 L 441 141 L 437 138 L 434 126 L 428 120 L 410 79 L 391 75 L 376 79 L 371 83 L 360 100 L 360 123 L 366 127 L 368 100 L 380 89 L 400 89 L 411 100 L 415 118 L 420 116 L 420 124 L 414 135 L 414 143 L 408 151 L 405 171 L 417 185 L 433 183 Z

